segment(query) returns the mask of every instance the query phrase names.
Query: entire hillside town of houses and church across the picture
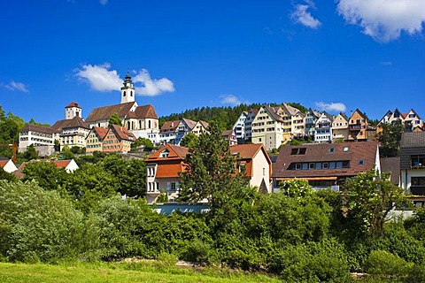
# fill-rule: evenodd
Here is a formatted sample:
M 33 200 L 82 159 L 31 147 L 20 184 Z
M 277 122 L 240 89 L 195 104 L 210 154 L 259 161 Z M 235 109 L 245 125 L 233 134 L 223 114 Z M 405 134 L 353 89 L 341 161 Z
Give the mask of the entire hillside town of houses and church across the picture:
M 111 123 L 114 115 L 119 125 Z M 73 147 L 85 150 L 86 154 L 96 151 L 128 154 L 133 142 L 147 139 L 158 149 L 145 159 L 148 203 L 157 203 L 158 195 L 163 192 L 168 202 L 176 200 L 180 173 L 189 152 L 181 146 L 182 140 L 188 134 L 199 136 L 209 131 L 208 122 L 186 118 L 166 121 L 159 127 L 154 106 L 135 101 L 135 87 L 129 73 L 120 88 L 119 104 L 98 107 L 87 119 L 82 117 L 81 106 L 72 102 L 65 107 L 65 119 L 53 126 L 27 124 L 19 132 L 19 152 L 32 146 L 40 157 Z M 383 125 L 396 123 L 405 129 L 400 155 L 382 157 L 377 134 L 383 131 Z M 347 178 L 375 169 L 390 172 L 392 182 L 403 187 L 406 194 L 413 194 L 413 202 L 422 206 L 425 203 L 424 134 L 423 120 L 413 109 L 387 111 L 372 126 L 359 109 L 350 116 L 342 112 L 330 115 L 311 108 L 303 112 L 282 103 L 243 111 L 233 128 L 222 132 L 222 137 L 229 142 L 232 154 L 240 157 L 238 172 L 261 193 L 274 193 L 282 180 L 294 178 L 308 180 L 316 189 L 332 187 L 338 191 Z M 291 145 L 291 141 L 298 144 Z M 18 176 L 23 166 L 17 167 L 12 160 L 2 161 L 6 172 L 16 172 Z

